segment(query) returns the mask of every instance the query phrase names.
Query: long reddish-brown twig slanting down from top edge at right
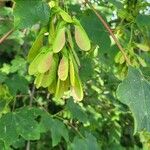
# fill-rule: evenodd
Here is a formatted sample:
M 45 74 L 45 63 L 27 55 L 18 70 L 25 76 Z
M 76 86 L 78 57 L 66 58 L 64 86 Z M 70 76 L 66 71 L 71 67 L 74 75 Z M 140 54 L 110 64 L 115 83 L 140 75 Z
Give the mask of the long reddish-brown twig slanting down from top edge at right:
M 90 4 L 90 2 L 88 0 L 85 0 L 85 3 L 89 5 L 89 7 L 93 10 L 93 12 L 95 13 L 95 15 L 102 22 L 102 24 L 104 25 L 104 27 L 106 28 L 106 30 L 112 36 L 112 38 L 114 39 L 115 43 L 117 44 L 119 50 L 121 51 L 122 55 L 124 56 L 127 64 L 131 65 L 130 60 L 128 59 L 128 57 L 127 57 L 127 55 L 126 55 L 123 47 L 121 46 L 121 44 L 119 43 L 119 41 L 117 40 L 117 38 L 115 37 L 115 35 L 113 34 L 113 32 L 112 32 L 111 28 L 109 27 L 109 25 L 106 23 L 106 21 L 103 19 L 103 17 L 97 12 L 97 10 Z

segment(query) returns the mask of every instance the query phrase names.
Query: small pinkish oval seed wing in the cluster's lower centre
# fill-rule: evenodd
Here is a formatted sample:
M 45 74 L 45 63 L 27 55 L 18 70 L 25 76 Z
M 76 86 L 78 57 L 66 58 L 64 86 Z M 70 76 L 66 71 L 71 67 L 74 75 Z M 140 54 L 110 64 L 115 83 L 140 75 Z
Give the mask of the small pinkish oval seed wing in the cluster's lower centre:
M 67 79 L 68 70 L 69 70 L 68 58 L 65 55 L 63 55 L 58 67 L 58 77 L 60 80 L 65 81 Z

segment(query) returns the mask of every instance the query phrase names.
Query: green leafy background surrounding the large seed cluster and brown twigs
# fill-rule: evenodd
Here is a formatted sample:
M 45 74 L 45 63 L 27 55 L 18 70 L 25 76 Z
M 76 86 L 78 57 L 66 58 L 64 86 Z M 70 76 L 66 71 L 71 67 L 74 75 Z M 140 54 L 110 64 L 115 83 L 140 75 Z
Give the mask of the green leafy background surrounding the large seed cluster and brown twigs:
M 150 3 L 97 0 L 125 49 L 132 68 L 93 11 L 79 1 L 60 2 L 75 15 L 92 43 L 82 53 L 84 99 L 69 93 L 59 100 L 36 89 L 28 74 L 27 53 L 52 14 L 49 0 L 0 1 L 0 150 L 149 150 Z M 13 5 L 12 5 L 13 4 Z

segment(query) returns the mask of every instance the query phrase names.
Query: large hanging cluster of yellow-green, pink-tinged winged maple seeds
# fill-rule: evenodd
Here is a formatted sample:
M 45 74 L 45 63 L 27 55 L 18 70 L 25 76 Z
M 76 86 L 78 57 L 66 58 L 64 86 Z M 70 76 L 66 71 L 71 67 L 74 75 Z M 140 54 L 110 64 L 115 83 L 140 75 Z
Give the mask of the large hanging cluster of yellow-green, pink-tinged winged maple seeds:
M 75 100 L 83 99 L 78 69 L 80 61 L 74 49 L 74 39 L 81 50 L 91 49 L 90 40 L 80 22 L 55 7 L 50 25 L 41 29 L 28 54 L 29 74 L 35 76 L 36 88 L 48 88 L 56 99 L 68 90 Z

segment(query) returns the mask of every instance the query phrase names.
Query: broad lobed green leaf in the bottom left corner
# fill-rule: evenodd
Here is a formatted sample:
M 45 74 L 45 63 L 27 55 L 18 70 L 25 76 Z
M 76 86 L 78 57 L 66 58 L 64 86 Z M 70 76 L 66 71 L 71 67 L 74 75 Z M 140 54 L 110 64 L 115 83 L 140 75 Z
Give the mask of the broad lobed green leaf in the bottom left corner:
M 0 118 L 0 139 L 6 146 L 14 144 L 19 136 L 25 140 L 37 140 L 45 130 L 36 120 L 44 112 L 36 108 L 22 108 Z

